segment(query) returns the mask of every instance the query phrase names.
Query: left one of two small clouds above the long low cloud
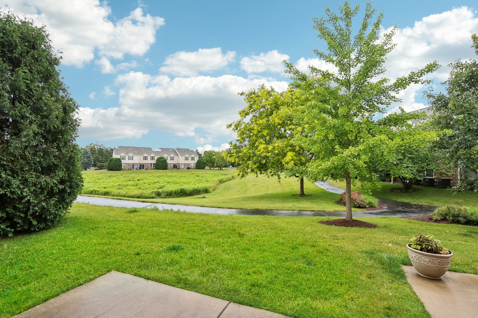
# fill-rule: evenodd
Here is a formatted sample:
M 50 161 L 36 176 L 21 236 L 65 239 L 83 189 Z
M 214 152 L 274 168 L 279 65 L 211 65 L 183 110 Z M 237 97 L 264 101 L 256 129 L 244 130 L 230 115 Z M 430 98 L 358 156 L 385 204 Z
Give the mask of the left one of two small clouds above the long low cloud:
M 222 53 L 221 48 L 199 49 L 194 52 L 177 51 L 169 55 L 160 71 L 174 76 L 195 76 L 225 67 L 236 58 L 235 51 Z

